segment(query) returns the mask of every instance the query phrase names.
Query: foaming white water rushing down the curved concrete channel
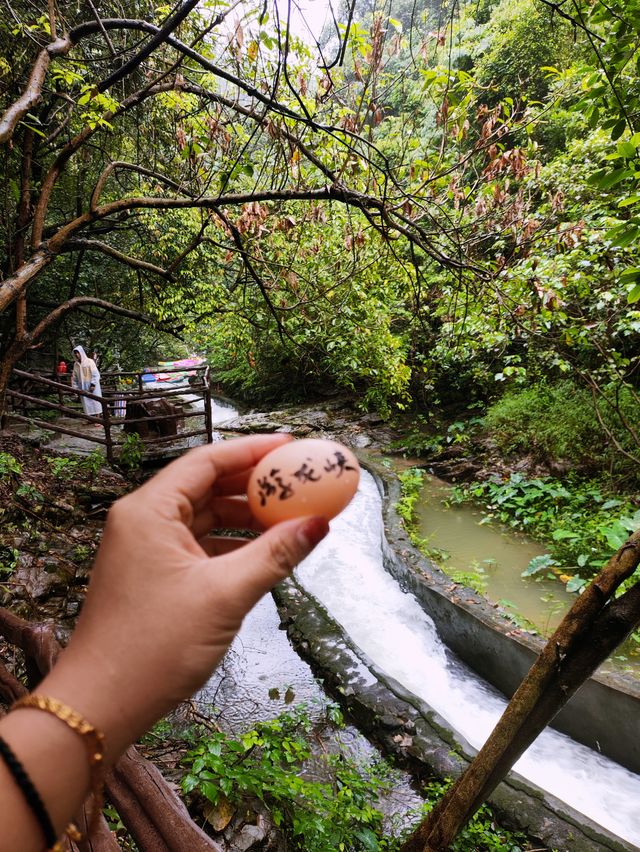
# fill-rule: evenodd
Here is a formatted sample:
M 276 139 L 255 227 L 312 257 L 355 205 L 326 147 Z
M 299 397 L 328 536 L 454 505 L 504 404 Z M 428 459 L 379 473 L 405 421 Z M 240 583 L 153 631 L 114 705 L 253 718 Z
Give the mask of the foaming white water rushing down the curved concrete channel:
M 297 570 L 300 584 L 387 675 L 480 748 L 504 710 L 492 687 L 452 662 L 432 620 L 383 567 L 382 507 L 373 477 Z M 547 728 L 514 769 L 576 811 L 640 846 L 640 777 Z

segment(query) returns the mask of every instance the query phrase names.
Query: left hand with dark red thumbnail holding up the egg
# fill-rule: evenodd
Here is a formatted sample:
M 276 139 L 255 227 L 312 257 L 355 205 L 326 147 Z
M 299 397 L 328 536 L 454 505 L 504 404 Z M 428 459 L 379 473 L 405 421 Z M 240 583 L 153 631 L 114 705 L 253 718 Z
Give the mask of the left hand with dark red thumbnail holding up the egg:
M 328 532 L 324 518 L 258 529 L 244 499 L 262 435 L 201 447 L 112 507 L 69 647 L 39 691 L 83 713 L 110 761 L 206 682 L 242 619 Z

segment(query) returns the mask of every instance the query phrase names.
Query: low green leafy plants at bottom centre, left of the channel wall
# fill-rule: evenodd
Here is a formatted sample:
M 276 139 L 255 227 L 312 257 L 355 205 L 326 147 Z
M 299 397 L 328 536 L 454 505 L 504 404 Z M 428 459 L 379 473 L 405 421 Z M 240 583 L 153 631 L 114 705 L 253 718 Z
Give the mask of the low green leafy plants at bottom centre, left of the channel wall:
M 334 724 L 342 724 L 336 707 L 330 706 L 329 713 Z M 388 848 L 375 806 L 387 789 L 388 770 L 371 762 L 359 764 L 345 752 L 323 753 L 314 763 L 322 767 L 325 780 L 305 777 L 311 729 L 300 705 L 237 738 L 210 734 L 187 755 L 183 790 L 197 791 L 214 805 L 223 798 L 233 805 L 250 797 L 262 800 L 291 849 Z

